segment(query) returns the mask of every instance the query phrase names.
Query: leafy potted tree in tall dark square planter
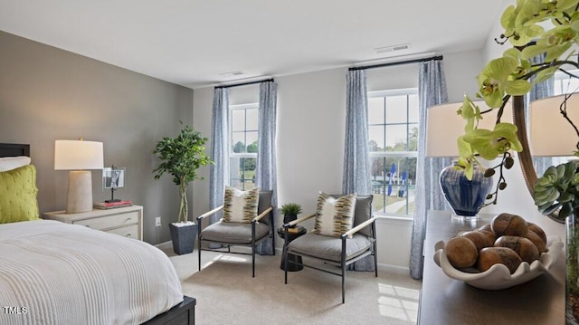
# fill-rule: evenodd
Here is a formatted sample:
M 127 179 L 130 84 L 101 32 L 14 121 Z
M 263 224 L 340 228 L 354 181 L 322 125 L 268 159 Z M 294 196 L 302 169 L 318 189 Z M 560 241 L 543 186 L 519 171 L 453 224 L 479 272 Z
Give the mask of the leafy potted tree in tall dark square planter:
M 167 173 L 173 177 L 176 186 L 179 186 L 179 214 L 176 223 L 169 224 L 173 250 L 178 254 L 192 253 L 195 246 L 196 225 L 188 220 L 186 192 L 190 182 L 203 179 L 197 176 L 197 169 L 213 164 L 204 153 L 204 144 L 208 140 L 192 127 L 185 126 L 176 138 L 164 137 L 153 150 L 153 154 L 161 159 L 161 164 L 153 170 L 155 179 Z

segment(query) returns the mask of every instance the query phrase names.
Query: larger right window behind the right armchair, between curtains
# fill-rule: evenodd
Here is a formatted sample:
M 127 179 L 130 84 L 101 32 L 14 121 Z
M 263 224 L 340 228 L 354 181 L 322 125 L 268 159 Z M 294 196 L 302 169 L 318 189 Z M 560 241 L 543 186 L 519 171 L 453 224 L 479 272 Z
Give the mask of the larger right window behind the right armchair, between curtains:
M 418 90 L 368 92 L 368 135 L 375 212 L 412 215 L 418 157 Z

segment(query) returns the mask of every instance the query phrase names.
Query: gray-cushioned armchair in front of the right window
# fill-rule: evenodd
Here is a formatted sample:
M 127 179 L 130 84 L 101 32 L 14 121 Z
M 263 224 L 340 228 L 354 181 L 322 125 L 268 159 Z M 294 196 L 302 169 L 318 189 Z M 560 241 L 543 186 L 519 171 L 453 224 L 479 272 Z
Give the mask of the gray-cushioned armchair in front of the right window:
M 338 275 L 342 278 L 342 303 L 346 301 L 345 278 L 346 266 L 369 255 L 374 255 L 375 276 L 378 276 L 377 255 L 376 255 L 376 232 L 375 216 L 372 213 L 372 199 L 374 196 L 356 196 L 356 207 L 354 213 L 354 223 L 352 229 L 344 232 L 339 237 L 324 234 L 308 233 L 288 242 L 286 235 L 283 244 L 283 256 L 285 260 L 284 269 L 288 270 L 288 263 L 302 265 L 321 272 Z M 283 225 L 284 231 L 292 225 L 298 225 L 316 214 L 303 216 L 297 220 Z M 318 260 L 323 264 L 334 265 L 340 268 L 341 272 L 329 270 L 326 267 L 315 266 L 306 263 L 289 261 L 288 254 L 292 253 L 309 260 Z M 285 283 L 288 283 L 288 271 L 285 271 Z

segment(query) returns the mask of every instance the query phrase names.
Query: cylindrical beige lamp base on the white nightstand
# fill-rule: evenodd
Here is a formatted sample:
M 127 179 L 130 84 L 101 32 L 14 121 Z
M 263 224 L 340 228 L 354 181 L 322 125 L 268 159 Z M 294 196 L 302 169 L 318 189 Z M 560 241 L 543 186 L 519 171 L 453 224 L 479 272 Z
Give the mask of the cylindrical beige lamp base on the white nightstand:
M 66 213 L 78 214 L 92 210 L 92 176 L 88 170 L 71 170 L 66 200 Z

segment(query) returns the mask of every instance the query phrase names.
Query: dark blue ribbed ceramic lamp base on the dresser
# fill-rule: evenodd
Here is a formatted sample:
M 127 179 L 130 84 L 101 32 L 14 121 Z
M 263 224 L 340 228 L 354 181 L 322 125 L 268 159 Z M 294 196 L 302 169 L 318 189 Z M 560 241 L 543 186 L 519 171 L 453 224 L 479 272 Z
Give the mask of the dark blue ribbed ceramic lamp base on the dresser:
M 441 171 L 442 193 L 454 212 L 453 217 L 476 219 L 492 187 L 492 177 L 484 177 L 484 173 L 475 167 L 472 180 L 469 180 L 464 171 L 455 168 L 455 165 L 456 161 Z

